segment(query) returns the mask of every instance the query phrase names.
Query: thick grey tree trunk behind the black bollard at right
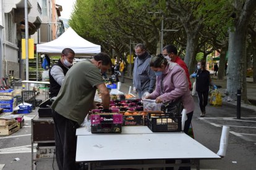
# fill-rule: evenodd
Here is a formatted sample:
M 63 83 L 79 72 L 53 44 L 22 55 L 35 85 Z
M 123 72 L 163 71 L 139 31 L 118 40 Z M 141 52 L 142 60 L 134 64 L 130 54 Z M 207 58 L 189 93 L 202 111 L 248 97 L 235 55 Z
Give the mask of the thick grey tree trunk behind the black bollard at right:
M 247 102 L 245 77 L 246 27 L 229 30 L 229 57 L 227 69 L 228 100 L 237 99 L 237 89 L 242 91 L 242 99 Z

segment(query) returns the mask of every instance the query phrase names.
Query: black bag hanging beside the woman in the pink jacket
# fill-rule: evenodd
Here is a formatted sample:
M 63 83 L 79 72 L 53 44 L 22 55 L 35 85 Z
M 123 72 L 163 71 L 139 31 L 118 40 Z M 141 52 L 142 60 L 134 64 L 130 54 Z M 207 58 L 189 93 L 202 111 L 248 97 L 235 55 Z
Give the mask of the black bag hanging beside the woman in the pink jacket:
M 164 113 L 169 113 L 172 116 L 181 116 L 183 108 L 181 97 L 174 100 L 174 102 L 164 103 L 161 106 L 161 110 L 164 111 Z

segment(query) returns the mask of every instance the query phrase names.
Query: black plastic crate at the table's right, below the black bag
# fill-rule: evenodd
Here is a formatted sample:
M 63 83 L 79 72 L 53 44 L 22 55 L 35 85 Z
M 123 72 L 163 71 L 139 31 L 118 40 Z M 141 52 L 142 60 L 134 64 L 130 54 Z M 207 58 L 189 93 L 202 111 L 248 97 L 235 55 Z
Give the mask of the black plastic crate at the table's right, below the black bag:
M 152 132 L 181 132 L 181 116 L 169 113 L 148 113 L 147 124 Z

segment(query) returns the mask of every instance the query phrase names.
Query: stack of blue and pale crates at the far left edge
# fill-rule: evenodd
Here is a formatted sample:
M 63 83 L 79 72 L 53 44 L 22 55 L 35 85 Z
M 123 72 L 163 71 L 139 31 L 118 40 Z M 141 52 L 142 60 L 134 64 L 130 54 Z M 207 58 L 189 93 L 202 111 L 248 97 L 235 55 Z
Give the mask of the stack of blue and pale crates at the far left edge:
M 6 89 L 0 91 L 0 108 L 3 108 L 4 112 L 12 112 L 15 108 L 15 101 L 14 100 L 14 89 Z

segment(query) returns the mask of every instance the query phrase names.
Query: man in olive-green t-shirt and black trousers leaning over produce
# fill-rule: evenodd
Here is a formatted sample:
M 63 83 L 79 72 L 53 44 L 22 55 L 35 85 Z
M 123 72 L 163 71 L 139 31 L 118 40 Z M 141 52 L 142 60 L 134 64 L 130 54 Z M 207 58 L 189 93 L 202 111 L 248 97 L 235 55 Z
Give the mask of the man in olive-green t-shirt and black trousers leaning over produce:
M 96 89 L 101 94 L 103 111 L 109 112 L 110 96 L 101 73 L 111 68 L 108 54 L 101 52 L 67 71 L 61 90 L 54 100 L 53 109 L 56 160 L 59 169 L 78 169 L 75 164 L 76 129 L 93 107 Z M 90 154 L 90 153 L 88 153 Z

